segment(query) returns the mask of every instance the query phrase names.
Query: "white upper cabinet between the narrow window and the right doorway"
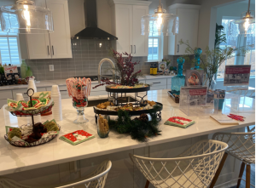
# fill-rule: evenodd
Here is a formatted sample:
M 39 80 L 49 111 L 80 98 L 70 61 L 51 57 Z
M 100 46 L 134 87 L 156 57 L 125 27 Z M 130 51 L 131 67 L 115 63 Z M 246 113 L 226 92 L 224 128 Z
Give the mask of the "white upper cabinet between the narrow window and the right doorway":
M 168 37 L 168 54 L 185 54 L 186 46 L 178 43 L 181 39 L 183 39 L 183 41 L 188 40 L 191 47 L 197 46 L 200 8 L 200 5 L 179 3 L 173 4 L 169 7 L 169 14 L 176 14 L 178 16 L 179 27 L 177 35 L 170 35 Z

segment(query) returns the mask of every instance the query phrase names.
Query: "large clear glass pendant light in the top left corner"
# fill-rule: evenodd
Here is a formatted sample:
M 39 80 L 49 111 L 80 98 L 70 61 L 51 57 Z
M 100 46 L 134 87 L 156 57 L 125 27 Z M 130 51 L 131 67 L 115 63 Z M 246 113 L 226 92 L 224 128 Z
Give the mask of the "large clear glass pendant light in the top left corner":
M 49 9 L 35 6 L 31 0 L 17 0 L 16 4 L 0 8 L 2 31 L 19 34 L 43 34 L 54 31 Z

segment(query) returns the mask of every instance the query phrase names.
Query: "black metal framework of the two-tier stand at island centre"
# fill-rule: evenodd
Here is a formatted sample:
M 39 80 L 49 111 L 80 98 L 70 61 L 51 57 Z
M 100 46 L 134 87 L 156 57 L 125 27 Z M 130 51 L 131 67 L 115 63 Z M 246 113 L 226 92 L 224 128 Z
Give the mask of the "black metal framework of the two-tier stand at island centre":
M 150 90 L 150 86 L 144 87 L 144 88 L 108 88 L 106 86 L 106 91 L 108 92 L 108 100 L 113 102 L 113 105 L 115 106 L 123 106 L 128 103 L 132 103 L 133 105 L 140 105 L 145 106 L 147 105 L 147 101 L 144 100 L 144 97 L 148 95 L 148 90 Z M 138 93 L 146 92 L 143 96 L 140 96 Z M 134 93 L 134 102 L 124 102 L 120 103 L 119 101 L 122 101 L 126 94 Z M 139 98 L 140 100 L 137 100 Z M 157 118 L 160 121 L 161 120 L 161 110 L 163 109 L 163 105 L 159 102 L 156 102 L 157 105 L 160 105 L 160 111 L 157 112 Z M 139 116 L 143 113 L 148 114 L 150 110 L 142 110 L 142 111 L 128 111 L 130 116 Z M 94 112 L 96 113 L 96 123 L 97 123 L 97 115 L 109 115 L 109 116 L 118 116 L 118 111 L 104 111 L 104 110 L 98 110 L 94 107 Z

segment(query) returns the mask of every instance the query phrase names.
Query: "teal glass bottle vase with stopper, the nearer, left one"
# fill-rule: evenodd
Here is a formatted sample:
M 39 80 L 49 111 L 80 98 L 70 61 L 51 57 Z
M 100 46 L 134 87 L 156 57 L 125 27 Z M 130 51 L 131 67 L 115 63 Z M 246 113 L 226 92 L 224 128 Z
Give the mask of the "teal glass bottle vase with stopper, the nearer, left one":
M 179 94 L 180 88 L 185 85 L 185 77 L 183 76 L 183 57 L 177 58 L 177 76 L 172 77 L 172 94 Z

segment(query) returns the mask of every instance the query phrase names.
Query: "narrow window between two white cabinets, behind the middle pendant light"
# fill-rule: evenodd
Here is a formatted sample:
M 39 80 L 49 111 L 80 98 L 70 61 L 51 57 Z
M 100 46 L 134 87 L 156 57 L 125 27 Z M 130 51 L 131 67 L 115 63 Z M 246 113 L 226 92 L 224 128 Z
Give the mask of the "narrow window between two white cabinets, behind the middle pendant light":
M 154 28 L 154 33 L 148 35 L 148 61 L 162 60 L 162 37 L 158 33 L 156 21 L 149 21 L 149 25 Z

